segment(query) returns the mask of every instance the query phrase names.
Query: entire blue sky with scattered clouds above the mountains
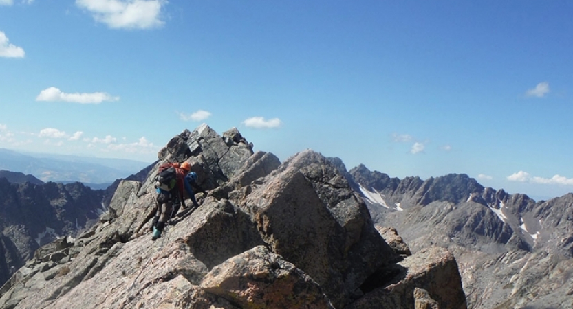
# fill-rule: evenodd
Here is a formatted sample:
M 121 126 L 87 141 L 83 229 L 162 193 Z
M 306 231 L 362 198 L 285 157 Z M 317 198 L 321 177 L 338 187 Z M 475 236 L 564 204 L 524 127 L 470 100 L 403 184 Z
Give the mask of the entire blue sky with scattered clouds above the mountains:
M 573 2 L 0 0 L 0 148 L 152 162 L 202 123 L 284 161 L 573 192 Z

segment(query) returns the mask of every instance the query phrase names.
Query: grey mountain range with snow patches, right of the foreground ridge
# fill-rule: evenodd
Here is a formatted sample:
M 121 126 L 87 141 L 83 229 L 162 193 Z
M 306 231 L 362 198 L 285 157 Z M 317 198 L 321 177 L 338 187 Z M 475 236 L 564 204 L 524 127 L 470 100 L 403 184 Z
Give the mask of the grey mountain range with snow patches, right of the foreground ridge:
M 573 308 L 573 194 L 536 202 L 465 174 L 400 180 L 364 165 L 347 178 L 414 255 L 432 245 L 455 255 L 469 308 Z

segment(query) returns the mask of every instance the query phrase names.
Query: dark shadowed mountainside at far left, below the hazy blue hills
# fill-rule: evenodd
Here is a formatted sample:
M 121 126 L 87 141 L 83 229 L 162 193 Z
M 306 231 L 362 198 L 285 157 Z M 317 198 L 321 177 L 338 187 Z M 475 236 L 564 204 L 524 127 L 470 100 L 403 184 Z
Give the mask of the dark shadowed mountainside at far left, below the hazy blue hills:
M 75 236 L 103 212 L 102 192 L 81 183 L 9 183 L 0 178 L 0 284 L 58 236 Z

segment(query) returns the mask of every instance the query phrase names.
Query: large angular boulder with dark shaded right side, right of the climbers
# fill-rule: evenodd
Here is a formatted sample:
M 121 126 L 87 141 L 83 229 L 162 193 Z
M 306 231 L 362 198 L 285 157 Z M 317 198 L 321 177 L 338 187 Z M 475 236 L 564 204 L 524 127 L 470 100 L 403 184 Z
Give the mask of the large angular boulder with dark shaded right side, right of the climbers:
M 263 181 L 240 207 L 263 240 L 321 284 L 335 307 L 395 253 L 374 229 L 362 200 L 325 157 L 307 150 Z

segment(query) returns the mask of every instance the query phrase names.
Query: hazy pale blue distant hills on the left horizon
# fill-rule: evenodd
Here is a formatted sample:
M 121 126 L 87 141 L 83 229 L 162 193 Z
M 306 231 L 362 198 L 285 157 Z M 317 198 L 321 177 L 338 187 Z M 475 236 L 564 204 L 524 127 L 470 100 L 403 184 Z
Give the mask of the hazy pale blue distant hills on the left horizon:
M 116 179 L 136 174 L 149 164 L 151 162 L 17 152 L 0 148 L 0 170 L 30 174 L 45 183 L 79 181 L 92 189 L 105 189 Z

